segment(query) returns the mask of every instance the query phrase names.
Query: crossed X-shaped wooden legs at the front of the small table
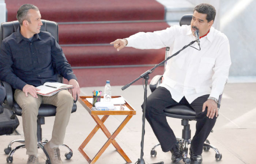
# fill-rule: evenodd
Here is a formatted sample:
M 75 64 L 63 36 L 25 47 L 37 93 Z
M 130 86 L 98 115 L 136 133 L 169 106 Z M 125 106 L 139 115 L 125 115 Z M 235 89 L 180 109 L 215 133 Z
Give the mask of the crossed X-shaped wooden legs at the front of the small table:
M 98 158 L 102 155 L 102 153 L 106 150 L 106 148 L 109 146 L 110 143 L 113 144 L 113 146 L 116 148 L 117 152 L 124 158 L 127 163 L 132 163 L 132 161 L 129 159 L 129 157 L 125 154 L 123 149 L 118 145 L 116 140 L 117 134 L 120 133 L 120 131 L 124 128 L 124 126 L 127 124 L 127 122 L 132 118 L 133 115 L 128 115 L 124 121 L 118 126 L 116 131 L 111 135 L 109 130 L 106 128 L 106 126 L 103 124 L 103 122 L 99 119 L 98 116 L 94 117 L 95 121 L 98 125 L 100 125 L 100 128 L 102 129 L 103 133 L 109 138 L 106 143 L 103 145 L 103 147 L 99 150 L 99 152 L 94 156 L 94 158 L 91 160 L 91 164 L 95 163 Z

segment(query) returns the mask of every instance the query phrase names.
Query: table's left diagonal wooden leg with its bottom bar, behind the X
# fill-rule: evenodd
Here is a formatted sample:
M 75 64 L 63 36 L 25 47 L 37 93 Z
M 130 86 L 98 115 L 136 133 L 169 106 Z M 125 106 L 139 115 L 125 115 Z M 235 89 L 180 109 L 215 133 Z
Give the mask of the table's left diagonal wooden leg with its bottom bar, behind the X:
M 101 118 L 102 124 L 107 120 L 109 116 L 105 115 Z M 83 143 L 78 148 L 78 151 L 84 156 L 84 158 L 88 161 L 88 163 L 91 163 L 91 159 L 89 156 L 83 151 L 84 147 L 88 144 L 88 142 L 91 140 L 91 138 L 94 136 L 94 134 L 98 131 L 100 128 L 100 125 L 97 124 L 95 128 L 91 131 L 91 133 L 87 136 L 87 138 L 83 141 Z

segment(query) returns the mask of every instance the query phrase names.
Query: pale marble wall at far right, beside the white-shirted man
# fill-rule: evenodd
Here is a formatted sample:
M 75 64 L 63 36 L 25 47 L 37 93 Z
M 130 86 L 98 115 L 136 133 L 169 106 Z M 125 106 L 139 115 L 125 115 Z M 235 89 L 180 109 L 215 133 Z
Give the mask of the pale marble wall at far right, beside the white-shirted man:
M 230 76 L 256 76 L 256 0 L 221 0 L 222 31 L 230 43 Z

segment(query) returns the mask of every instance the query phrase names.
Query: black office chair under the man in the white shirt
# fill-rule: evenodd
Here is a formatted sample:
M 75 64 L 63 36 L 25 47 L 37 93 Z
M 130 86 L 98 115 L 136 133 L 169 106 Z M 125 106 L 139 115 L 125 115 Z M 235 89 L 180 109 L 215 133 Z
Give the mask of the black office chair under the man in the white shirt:
M 191 19 L 192 19 L 192 14 L 187 14 L 182 16 L 180 19 L 180 26 L 185 24 L 190 25 Z M 165 54 L 166 57 L 168 55 L 168 52 L 169 52 L 169 47 L 166 48 L 166 54 Z M 158 85 L 161 83 L 161 80 L 162 80 L 162 75 L 156 75 L 151 80 L 149 85 L 151 92 L 153 92 L 158 87 Z M 218 109 L 220 107 L 221 98 L 222 98 L 222 95 L 219 96 Z M 176 139 L 177 139 L 177 144 L 179 145 L 179 148 L 182 152 L 182 156 L 183 156 L 182 160 L 184 161 L 184 163 L 188 164 L 191 161 L 190 158 L 188 157 L 188 145 L 191 144 L 191 129 L 190 129 L 189 121 L 196 120 L 196 112 L 192 108 L 185 105 L 177 105 L 177 106 L 169 107 L 169 108 L 166 108 L 164 112 L 167 117 L 182 119 L 181 125 L 184 126 L 184 128 L 182 129 L 182 137 L 181 138 L 176 137 Z M 213 132 L 213 130 L 211 132 Z M 209 151 L 209 149 L 212 148 L 216 153 L 215 159 L 221 160 L 222 154 L 219 153 L 218 149 L 210 145 L 209 140 L 206 140 L 205 142 L 206 143 L 204 143 L 203 145 L 204 151 Z M 157 151 L 155 150 L 155 148 L 158 147 L 159 145 L 160 144 L 156 144 L 151 149 L 150 151 L 151 156 L 157 155 Z

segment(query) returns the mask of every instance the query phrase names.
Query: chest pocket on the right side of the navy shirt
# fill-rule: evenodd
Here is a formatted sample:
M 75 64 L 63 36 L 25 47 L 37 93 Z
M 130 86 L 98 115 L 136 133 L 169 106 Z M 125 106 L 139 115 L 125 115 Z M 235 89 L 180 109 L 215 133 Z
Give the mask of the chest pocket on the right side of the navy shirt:
M 38 49 L 38 64 L 39 67 L 47 67 L 52 62 L 51 47 L 45 46 Z

